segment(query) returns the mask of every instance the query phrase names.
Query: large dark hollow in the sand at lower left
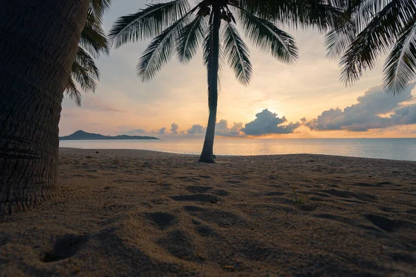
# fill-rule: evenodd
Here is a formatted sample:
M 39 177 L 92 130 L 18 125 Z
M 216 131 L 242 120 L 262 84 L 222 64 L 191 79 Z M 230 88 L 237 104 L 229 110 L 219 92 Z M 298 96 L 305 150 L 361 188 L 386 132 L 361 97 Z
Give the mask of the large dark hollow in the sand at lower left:
M 56 262 L 74 256 L 83 247 L 88 240 L 87 235 L 64 235 L 58 238 L 53 245 L 51 251 L 47 251 L 40 255 L 42 262 Z

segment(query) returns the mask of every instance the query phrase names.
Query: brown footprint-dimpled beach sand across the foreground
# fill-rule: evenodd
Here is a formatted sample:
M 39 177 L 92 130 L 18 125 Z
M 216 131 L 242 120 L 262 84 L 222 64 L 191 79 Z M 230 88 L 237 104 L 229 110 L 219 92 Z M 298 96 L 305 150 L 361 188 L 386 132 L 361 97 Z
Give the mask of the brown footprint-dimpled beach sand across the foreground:
M 197 159 L 61 148 L 58 196 L 0 217 L 0 276 L 416 276 L 416 162 Z

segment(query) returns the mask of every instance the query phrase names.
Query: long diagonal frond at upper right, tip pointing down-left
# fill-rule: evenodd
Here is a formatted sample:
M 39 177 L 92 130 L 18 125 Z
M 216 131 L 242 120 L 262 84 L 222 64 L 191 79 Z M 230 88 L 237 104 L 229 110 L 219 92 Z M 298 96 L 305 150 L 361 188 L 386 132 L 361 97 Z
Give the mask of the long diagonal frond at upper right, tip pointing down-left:
M 395 42 L 403 22 L 408 19 L 404 5 L 409 1 L 391 0 L 356 36 L 340 62 L 343 67 L 341 80 L 345 84 L 352 84 L 361 78 L 365 69 L 373 69 L 379 54 Z

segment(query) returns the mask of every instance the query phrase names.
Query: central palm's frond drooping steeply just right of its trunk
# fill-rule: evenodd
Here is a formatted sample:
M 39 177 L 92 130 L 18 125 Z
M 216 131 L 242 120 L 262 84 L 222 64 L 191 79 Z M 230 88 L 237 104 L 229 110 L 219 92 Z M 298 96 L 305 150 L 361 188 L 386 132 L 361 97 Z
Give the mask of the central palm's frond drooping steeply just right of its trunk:
M 223 28 L 224 53 L 229 66 L 234 69 L 237 80 L 248 84 L 252 75 L 252 65 L 248 47 L 241 39 L 237 29 L 231 23 Z

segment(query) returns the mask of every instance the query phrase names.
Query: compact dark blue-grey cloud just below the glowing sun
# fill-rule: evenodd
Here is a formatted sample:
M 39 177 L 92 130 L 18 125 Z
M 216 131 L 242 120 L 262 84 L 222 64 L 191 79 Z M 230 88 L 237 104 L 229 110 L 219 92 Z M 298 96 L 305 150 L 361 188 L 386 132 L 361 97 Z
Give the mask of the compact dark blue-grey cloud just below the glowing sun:
M 300 126 L 300 123 L 286 123 L 286 117 L 279 118 L 277 114 L 272 113 L 268 109 L 256 114 L 256 119 L 245 124 L 241 131 L 248 135 L 259 136 L 263 134 L 291 134 Z

